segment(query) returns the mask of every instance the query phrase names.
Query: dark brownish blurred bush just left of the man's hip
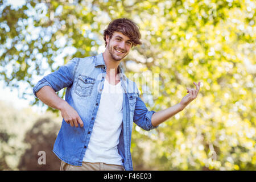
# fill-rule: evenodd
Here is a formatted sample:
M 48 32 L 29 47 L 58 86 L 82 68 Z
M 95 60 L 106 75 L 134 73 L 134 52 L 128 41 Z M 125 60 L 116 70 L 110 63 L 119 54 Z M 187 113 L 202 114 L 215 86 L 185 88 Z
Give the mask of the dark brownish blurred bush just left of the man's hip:
M 49 118 L 38 119 L 25 135 L 24 143 L 30 147 L 20 157 L 18 168 L 26 171 L 59 170 L 61 160 L 52 152 L 59 129 L 59 125 Z

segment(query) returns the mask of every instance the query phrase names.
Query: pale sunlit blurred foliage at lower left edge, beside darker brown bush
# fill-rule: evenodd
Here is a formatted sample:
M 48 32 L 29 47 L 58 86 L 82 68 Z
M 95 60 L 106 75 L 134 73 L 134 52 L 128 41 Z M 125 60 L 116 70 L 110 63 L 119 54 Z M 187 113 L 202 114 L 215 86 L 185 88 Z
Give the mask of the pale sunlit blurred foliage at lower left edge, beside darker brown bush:
M 15 109 L 3 101 L 0 101 L 0 110 L 0 170 L 18 169 L 20 156 L 27 148 L 24 135 L 38 114 L 30 109 Z

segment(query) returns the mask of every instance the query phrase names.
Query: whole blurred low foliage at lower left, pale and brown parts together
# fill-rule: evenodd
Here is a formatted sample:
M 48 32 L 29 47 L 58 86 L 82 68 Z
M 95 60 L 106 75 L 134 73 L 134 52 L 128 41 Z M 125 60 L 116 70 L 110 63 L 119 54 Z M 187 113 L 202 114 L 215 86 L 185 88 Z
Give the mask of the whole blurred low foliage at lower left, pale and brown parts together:
M 59 170 L 60 160 L 52 147 L 60 129 L 60 117 L 17 110 L 0 102 L 0 170 Z M 51 118 L 51 119 L 49 119 Z M 39 165 L 39 151 L 46 152 L 46 164 Z

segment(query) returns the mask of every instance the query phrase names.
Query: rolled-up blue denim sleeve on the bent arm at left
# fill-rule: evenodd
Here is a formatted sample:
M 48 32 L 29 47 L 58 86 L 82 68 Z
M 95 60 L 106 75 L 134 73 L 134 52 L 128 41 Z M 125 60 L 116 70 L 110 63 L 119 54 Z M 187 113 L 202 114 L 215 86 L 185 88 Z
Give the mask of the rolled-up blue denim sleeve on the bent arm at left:
M 43 88 L 43 86 L 51 86 L 55 92 L 69 87 L 73 84 L 73 78 L 75 71 L 78 65 L 78 58 L 74 58 L 71 61 L 68 61 L 67 64 L 61 66 L 57 71 L 50 73 L 47 76 L 44 76 L 42 80 L 39 80 L 38 83 L 33 88 L 33 93 L 36 96 L 36 92 Z

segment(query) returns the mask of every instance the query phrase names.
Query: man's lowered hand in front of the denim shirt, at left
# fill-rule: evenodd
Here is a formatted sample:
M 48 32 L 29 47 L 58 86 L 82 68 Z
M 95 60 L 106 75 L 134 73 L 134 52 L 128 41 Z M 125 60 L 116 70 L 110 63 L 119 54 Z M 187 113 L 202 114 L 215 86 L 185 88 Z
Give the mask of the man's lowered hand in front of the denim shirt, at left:
M 60 113 L 64 121 L 69 123 L 70 126 L 78 127 L 80 124 L 80 127 L 84 127 L 84 123 L 82 122 L 79 114 L 71 105 L 68 104 L 68 102 L 64 102 L 64 104 L 61 106 Z

